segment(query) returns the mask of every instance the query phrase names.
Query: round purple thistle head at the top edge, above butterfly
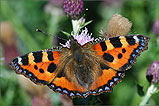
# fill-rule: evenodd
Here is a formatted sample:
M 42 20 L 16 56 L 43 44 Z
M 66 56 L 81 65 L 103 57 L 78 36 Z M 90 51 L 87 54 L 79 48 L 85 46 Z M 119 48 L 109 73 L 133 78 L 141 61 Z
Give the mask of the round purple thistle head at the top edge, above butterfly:
M 68 17 L 77 19 L 84 10 L 83 0 L 64 0 L 63 8 Z

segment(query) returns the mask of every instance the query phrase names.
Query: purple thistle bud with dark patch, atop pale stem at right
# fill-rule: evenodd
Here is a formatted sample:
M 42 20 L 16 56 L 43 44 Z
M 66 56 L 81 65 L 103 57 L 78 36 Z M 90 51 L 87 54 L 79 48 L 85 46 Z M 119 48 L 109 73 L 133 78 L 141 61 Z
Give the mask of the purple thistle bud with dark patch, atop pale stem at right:
M 159 61 L 154 61 L 147 70 L 146 78 L 149 82 L 159 83 Z

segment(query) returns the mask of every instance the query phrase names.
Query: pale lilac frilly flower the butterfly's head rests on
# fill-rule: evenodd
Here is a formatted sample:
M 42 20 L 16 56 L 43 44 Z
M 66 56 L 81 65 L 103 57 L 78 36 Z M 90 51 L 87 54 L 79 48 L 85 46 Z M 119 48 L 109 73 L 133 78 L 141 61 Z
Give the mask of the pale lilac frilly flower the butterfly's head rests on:
M 77 40 L 77 42 L 83 46 L 84 44 L 90 42 L 90 41 L 93 41 L 94 38 L 91 37 L 92 34 L 89 34 L 88 33 L 88 30 L 87 28 L 85 28 L 84 30 L 82 30 L 82 32 L 79 34 L 73 34 L 71 33 L 71 36 L 74 37 L 74 39 Z M 65 44 L 60 44 L 62 45 L 63 47 L 67 47 L 67 48 L 70 48 L 70 40 L 68 40 Z

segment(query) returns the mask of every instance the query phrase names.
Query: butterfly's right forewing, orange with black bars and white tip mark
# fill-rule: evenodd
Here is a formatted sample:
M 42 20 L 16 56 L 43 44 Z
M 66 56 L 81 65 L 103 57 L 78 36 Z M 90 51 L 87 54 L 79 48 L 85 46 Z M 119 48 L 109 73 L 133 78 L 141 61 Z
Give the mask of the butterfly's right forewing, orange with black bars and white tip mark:
M 148 41 L 149 38 L 143 35 L 118 36 L 95 44 L 93 49 L 109 67 L 124 71 L 148 48 Z

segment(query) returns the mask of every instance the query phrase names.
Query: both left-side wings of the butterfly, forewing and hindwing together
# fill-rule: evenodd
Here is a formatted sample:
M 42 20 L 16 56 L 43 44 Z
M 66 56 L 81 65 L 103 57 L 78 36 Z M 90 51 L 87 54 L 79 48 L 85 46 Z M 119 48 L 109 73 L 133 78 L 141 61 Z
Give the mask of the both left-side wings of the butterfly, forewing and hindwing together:
M 17 74 L 23 74 L 36 84 L 48 85 L 52 90 L 69 97 L 75 96 L 75 92 L 76 96 L 80 96 L 80 93 L 86 91 L 85 88 L 68 81 L 65 76 L 58 75 L 54 79 L 60 56 L 59 51 L 52 49 L 31 52 L 13 59 L 10 66 Z

